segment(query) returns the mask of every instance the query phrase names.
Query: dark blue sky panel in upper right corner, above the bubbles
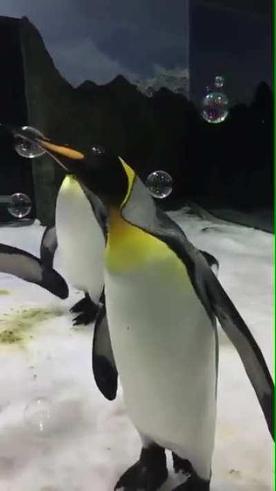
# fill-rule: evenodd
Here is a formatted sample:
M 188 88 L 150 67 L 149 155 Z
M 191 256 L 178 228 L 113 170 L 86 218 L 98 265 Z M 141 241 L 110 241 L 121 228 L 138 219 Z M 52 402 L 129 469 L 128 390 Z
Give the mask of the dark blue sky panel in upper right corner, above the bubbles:
M 230 104 L 250 104 L 260 81 L 272 87 L 272 2 L 211 3 L 190 2 L 190 95 L 224 75 Z

